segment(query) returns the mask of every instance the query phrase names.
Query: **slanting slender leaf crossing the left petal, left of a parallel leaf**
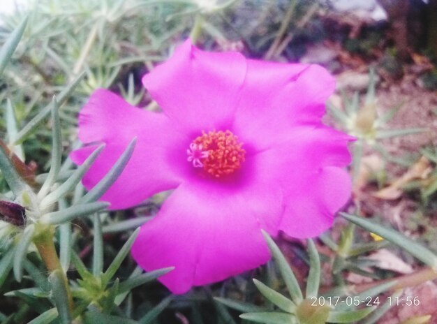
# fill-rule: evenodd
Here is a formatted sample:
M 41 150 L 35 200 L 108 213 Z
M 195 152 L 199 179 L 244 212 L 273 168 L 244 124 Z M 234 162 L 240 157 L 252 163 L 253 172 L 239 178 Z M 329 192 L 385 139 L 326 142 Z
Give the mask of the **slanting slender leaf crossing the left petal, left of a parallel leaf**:
M 94 163 L 94 161 L 96 161 L 104 147 L 105 145 L 99 146 L 88 156 L 84 163 L 82 163 L 82 165 L 80 165 L 80 167 L 77 168 L 63 184 L 61 184 L 61 186 L 45 196 L 40 203 L 41 209 L 45 209 L 46 207 L 52 205 L 54 202 L 57 202 L 59 199 L 64 197 L 68 192 L 72 191 L 80 182 L 85 173 L 87 173 L 89 168 L 91 168 L 91 165 Z

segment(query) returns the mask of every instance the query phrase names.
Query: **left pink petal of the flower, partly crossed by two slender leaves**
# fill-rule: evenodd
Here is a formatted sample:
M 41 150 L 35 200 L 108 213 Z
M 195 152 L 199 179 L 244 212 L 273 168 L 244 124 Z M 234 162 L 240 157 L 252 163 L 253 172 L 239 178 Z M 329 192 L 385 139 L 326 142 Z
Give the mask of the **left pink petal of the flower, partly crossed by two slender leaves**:
M 186 173 L 186 152 L 190 140 L 175 131 L 165 115 L 132 107 L 110 91 L 94 91 L 79 116 L 79 138 L 90 147 L 78 149 L 71 159 L 82 164 L 95 149 L 96 142 L 106 147 L 82 179 L 91 189 L 112 168 L 137 137 L 131 160 L 117 181 L 101 200 L 111 202 L 111 209 L 138 205 L 159 191 L 178 186 Z

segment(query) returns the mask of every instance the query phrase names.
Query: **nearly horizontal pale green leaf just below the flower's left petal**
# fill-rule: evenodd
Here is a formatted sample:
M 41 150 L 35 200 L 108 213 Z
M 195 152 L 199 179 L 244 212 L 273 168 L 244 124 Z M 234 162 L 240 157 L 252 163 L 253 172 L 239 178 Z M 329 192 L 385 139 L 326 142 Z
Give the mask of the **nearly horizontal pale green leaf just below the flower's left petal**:
M 40 218 L 41 223 L 59 225 L 75 219 L 76 217 L 88 216 L 110 206 L 109 202 L 96 201 L 84 205 L 73 205 L 67 209 L 51 212 Z

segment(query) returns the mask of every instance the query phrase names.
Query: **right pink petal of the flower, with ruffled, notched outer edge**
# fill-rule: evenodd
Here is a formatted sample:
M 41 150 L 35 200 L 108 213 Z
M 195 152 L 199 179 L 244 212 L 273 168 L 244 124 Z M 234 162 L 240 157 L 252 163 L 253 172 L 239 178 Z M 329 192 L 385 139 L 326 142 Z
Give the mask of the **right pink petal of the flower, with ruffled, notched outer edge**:
M 292 237 L 314 237 L 332 226 L 350 198 L 348 135 L 332 128 L 299 127 L 288 142 L 257 154 L 270 182 L 283 191 L 286 209 L 278 229 Z

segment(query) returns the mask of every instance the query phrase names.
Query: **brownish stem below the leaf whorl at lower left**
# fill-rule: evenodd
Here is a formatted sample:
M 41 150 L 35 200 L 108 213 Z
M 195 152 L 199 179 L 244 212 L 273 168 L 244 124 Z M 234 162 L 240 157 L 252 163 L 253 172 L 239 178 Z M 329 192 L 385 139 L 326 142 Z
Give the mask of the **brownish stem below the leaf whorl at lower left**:
M 68 285 L 66 274 L 64 270 L 62 270 L 61 263 L 59 262 L 58 254 L 54 247 L 53 238 L 54 228 L 52 226 L 48 228 L 44 226 L 43 228 L 38 228 L 37 234 L 34 236 L 34 244 L 36 245 L 36 249 L 38 249 L 41 258 L 43 259 L 43 262 L 50 273 L 54 272 L 55 270 L 61 270 L 64 286 L 68 296 L 68 307 L 70 308 L 70 311 L 73 311 L 74 303 L 70 286 Z

